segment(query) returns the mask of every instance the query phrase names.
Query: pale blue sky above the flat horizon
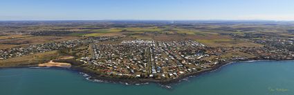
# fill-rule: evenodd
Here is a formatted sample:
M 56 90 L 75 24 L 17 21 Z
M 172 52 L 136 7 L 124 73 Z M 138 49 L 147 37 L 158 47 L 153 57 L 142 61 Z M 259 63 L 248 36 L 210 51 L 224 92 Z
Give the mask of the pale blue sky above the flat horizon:
M 293 0 L 1 0 L 0 20 L 294 20 Z

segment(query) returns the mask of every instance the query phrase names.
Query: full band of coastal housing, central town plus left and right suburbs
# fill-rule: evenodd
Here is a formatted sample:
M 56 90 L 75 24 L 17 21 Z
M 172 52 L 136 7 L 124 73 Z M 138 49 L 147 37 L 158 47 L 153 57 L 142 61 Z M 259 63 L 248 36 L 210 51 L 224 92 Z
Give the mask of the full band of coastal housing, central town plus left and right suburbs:
M 293 45 L 292 40 L 252 40 L 264 44 L 259 47 L 210 47 L 195 40 L 120 40 L 121 38 L 123 37 L 88 37 L 4 49 L 0 51 L 0 60 L 83 47 L 84 51 L 73 55 L 75 62 L 81 63 L 76 67 L 92 71 L 98 76 L 173 80 L 211 70 L 228 62 L 294 59 L 294 52 L 286 48 Z M 104 41 L 120 42 L 103 43 Z

